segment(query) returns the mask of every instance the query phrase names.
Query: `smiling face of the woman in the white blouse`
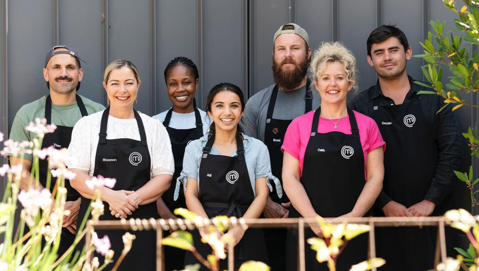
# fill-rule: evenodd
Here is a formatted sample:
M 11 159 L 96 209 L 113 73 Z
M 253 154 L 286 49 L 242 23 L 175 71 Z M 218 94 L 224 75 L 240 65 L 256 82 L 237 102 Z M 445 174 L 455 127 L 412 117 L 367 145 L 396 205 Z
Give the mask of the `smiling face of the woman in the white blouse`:
M 133 108 L 141 81 L 137 82 L 133 70 L 121 67 L 110 71 L 108 82 L 103 82 L 112 109 L 126 110 Z

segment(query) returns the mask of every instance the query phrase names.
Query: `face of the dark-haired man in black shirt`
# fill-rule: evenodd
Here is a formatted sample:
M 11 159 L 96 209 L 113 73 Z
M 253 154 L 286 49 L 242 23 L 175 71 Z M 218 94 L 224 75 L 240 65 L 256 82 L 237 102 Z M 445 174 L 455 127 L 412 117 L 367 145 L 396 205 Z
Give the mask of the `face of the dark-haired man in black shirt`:
M 374 67 L 379 77 L 395 79 L 406 71 L 406 61 L 411 59 L 412 50 L 406 50 L 397 37 L 390 37 L 381 43 L 373 43 L 369 64 Z

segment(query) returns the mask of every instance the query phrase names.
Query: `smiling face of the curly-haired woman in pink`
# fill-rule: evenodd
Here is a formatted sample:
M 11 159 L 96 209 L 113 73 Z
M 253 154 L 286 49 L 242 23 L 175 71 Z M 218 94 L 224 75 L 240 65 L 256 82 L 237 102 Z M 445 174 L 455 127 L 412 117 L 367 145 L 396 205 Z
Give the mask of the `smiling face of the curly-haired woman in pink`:
M 349 83 L 346 70 L 341 62 L 328 62 L 314 80 L 314 85 L 321 96 L 321 103 L 346 104 L 348 91 L 353 87 Z

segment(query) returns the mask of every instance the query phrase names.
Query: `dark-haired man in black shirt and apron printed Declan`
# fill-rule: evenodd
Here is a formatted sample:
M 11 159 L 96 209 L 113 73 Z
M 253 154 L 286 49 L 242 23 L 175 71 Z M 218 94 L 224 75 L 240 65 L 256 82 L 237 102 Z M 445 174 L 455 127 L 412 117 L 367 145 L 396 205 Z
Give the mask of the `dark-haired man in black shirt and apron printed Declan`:
M 373 118 L 386 141 L 383 191 L 375 215 L 423 217 L 442 215 L 462 167 L 459 125 L 444 99 L 418 95 L 423 90 L 408 76 L 412 50 L 403 31 L 391 25 L 374 29 L 367 40 L 368 62 L 378 74 L 376 85 L 354 100 L 353 109 Z M 378 257 L 384 270 L 433 269 L 436 229 L 378 228 Z

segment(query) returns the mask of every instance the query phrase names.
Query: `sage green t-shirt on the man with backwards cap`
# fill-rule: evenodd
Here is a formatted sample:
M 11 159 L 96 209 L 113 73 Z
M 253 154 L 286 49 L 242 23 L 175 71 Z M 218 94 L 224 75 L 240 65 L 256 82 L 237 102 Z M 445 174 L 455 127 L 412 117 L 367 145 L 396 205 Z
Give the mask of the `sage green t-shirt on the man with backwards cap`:
M 81 95 L 79 96 L 85 104 L 88 115 L 105 109 L 103 105 Z M 36 118 L 45 117 L 45 103 L 46 96 L 43 96 L 36 101 L 23 105 L 20 110 L 18 110 L 11 125 L 11 140 L 17 142 L 32 141 L 36 137 L 35 133 L 25 130 L 25 127 L 30 121 L 35 122 Z M 73 127 L 80 118 L 81 112 L 77 102 L 67 105 L 51 105 L 51 123 L 55 125 Z M 31 154 L 25 154 L 24 158 L 30 161 L 33 159 Z

